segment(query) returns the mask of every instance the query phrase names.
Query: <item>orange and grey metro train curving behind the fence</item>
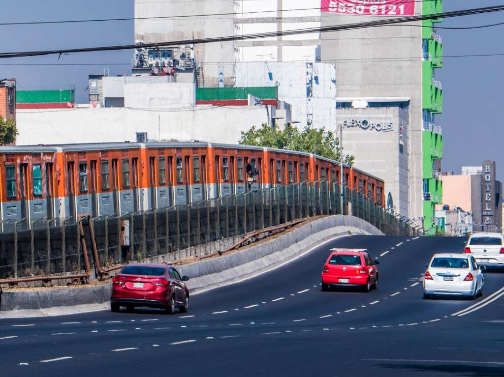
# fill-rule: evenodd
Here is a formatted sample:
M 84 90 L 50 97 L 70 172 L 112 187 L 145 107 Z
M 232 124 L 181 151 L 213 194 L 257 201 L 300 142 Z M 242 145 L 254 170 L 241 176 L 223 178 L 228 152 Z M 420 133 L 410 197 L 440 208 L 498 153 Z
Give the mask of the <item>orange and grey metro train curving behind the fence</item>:
M 340 179 L 339 163 L 316 155 L 206 142 L 2 146 L 0 155 L 2 220 L 125 214 Z M 247 166 L 257 173 L 250 184 Z M 343 170 L 350 189 L 384 204 L 383 180 Z

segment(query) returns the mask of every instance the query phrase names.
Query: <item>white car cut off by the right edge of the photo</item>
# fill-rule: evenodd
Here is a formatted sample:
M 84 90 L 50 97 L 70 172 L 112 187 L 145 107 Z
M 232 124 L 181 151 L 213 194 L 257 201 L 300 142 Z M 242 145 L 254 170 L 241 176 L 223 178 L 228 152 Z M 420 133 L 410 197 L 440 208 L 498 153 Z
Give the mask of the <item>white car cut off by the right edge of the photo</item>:
M 469 237 L 464 253 L 472 254 L 478 265 L 504 268 L 504 238 L 501 233 L 474 233 Z

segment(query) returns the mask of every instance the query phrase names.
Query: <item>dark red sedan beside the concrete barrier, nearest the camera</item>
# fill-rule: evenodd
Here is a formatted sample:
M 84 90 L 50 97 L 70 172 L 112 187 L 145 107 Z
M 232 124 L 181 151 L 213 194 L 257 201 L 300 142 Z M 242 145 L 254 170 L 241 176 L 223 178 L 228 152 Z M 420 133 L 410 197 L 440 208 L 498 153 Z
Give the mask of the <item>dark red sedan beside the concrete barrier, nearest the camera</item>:
M 132 263 L 112 278 L 110 310 L 118 312 L 126 307 L 162 308 L 173 314 L 175 308 L 186 313 L 189 310 L 189 289 L 184 281 L 187 276 L 164 264 Z

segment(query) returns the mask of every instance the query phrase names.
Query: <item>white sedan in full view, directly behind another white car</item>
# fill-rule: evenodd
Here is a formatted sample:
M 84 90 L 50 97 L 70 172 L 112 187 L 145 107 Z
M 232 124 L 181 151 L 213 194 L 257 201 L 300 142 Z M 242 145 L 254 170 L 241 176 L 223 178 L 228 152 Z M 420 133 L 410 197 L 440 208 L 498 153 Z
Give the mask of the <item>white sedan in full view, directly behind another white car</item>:
M 423 297 L 459 295 L 475 299 L 483 295 L 482 270 L 472 255 L 434 254 L 423 277 Z

